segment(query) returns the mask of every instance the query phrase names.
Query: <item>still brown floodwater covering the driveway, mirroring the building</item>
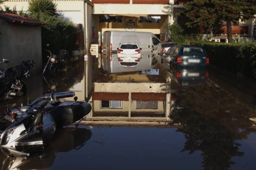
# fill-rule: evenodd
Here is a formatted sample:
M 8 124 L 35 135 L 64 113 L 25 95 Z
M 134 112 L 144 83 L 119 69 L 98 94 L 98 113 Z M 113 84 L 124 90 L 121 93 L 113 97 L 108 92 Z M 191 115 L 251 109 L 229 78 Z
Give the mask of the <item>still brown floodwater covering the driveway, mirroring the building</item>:
M 89 56 L 58 73 L 31 75 L 25 96 L 1 102 L 4 112 L 28 98 L 74 91 L 92 106 L 81 125 L 57 130 L 41 158 L 0 153 L 2 169 L 256 169 L 255 80 L 160 63 L 109 73 L 99 62 Z

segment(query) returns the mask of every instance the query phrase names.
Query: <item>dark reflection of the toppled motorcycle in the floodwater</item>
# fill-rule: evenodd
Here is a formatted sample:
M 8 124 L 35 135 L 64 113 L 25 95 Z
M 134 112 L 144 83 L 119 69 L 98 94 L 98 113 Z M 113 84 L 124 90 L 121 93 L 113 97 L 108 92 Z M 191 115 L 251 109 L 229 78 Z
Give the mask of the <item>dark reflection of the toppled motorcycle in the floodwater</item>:
M 86 128 L 66 127 L 60 129 L 49 146 L 42 152 L 35 152 L 35 157 L 28 159 L 4 157 L 2 169 L 45 169 L 53 165 L 57 153 L 79 150 L 91 138 L 91 131 Z

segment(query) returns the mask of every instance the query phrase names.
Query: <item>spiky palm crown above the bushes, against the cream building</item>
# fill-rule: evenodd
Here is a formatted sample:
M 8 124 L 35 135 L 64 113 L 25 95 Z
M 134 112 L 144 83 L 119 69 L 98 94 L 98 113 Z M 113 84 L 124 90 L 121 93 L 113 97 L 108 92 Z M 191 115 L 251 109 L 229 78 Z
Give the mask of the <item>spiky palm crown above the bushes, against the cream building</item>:
M 28 5 L 28 12 L 32 17 L 38 18 L 41 13 L 50 16 L 58 15 L 57 4 L 52 0 L 32 0 Z

